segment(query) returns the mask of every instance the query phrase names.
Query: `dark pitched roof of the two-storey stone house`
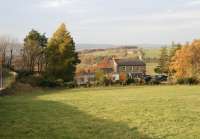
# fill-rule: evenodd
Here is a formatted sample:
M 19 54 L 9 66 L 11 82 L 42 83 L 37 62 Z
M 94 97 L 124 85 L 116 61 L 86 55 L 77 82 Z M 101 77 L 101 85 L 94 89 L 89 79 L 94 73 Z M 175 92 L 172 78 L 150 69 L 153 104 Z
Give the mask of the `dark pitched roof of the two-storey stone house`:
M 146 64 L 141 60 L 135 59 L 115 59 L 119 66 L 145 66 Z

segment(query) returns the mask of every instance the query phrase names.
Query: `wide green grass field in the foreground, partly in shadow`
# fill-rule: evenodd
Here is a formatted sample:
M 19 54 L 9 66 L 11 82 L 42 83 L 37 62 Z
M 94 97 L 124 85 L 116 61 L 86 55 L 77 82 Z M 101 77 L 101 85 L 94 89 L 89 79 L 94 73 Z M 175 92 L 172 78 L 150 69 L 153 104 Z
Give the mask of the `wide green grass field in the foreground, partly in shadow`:
M 0 138 L 198 139 L 200 86 L 38 90 L 1 97 Z

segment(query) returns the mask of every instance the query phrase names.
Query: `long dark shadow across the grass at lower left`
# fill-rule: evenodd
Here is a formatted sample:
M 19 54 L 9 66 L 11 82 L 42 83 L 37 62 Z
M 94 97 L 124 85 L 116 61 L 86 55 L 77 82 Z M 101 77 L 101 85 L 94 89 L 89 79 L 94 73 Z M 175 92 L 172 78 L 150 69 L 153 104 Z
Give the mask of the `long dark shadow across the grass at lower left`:
M 21 103 L 7 103 L 1 108 L 0 137 L 153 139 L 138 132 L 136 127 L 129 128 L 126 123 L 99 119 L 58 102 L 30 99 Z

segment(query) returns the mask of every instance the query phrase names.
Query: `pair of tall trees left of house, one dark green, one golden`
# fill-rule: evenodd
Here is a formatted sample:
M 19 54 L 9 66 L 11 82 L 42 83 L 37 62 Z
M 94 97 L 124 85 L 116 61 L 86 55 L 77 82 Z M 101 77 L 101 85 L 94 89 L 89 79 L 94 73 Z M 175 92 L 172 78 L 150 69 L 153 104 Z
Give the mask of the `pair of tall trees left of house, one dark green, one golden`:
M 80 62 L 65 24 L 61 24 L 50 39 L 45 34 L 31 30 L 24 39 L 21 56 L 19 73 L 39 75 L 49 81 L 73 81 L 76 65 Z

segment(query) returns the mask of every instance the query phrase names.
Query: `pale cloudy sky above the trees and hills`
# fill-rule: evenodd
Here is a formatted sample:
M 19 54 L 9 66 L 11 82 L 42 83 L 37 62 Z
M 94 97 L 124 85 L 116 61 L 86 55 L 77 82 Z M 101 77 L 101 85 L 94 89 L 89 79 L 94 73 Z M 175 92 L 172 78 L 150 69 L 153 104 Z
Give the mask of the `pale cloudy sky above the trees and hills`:
M 200 0 L 0 0 L 0 35 L 51 36 L 62 22 L 76 43 L 138 44 L 200 38 Z

